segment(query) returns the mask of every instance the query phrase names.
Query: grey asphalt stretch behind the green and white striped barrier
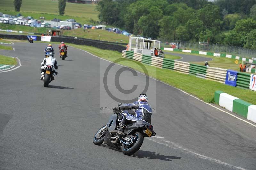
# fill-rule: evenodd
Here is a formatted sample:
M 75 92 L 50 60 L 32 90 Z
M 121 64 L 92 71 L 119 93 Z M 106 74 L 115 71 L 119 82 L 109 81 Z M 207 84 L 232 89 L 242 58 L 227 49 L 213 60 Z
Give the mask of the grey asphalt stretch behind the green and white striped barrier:
M 180 56 L 182 58 L 177 59 L 180 61 L 185 61 L 185 62 L 199 62 L 199 61 L 211 61 L 212 58 L 208 58 L 208 57 L 203 57 L 203 56 L 194 56 L 194 55 L 189 55 L 189 54 L 179 54 L 179 53 L 173 53 L 173 52 L 166 52 L 164 51 L 165 54 L 171 54 L 174 56 Z

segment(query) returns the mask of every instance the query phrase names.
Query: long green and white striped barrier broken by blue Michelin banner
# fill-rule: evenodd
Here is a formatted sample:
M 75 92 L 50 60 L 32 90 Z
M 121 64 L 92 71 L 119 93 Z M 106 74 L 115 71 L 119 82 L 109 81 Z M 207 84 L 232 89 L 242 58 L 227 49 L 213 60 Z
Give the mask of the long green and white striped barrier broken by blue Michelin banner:
M 174 49 L 173 49 L 174 50 Z M 219 55 L 219 54 L 215 54 Z M 219 55 L 221 56 L 221 55 Z M 188 62 L 171 60 L 161 57 L 142 55 L 133 51 L 122 50 L 122 57 L 134 59 L 136 61 L 164 69 L 171 69 L 184 74 L 195 75 L 196 77 L 208 79 L 222 84 L 226 83 L 227 69 L 206 67 Z M 237 74 L 237 86 L 241 88 L 249 89 L 250 74 L 238 72 Z

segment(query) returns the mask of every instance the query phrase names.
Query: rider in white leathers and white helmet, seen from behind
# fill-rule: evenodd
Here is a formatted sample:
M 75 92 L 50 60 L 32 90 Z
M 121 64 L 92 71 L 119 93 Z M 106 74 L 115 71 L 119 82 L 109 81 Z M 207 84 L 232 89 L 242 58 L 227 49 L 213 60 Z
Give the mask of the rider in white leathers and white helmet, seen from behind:
M 44 73 L 45 73 L 45 68 L 51 65 L 54 72 L 52 74 L 52 80 L 54 80 L 54 75 L 57 75 L 58 72 L 56 71 L 58 69 L 58 64 L 57 64 L 57 60 L 54 58 L 54 55 L 52 52 L 49 52 L 47 54 L 47 56 L 44 58 L 43 62 L 41 63 L 41 78 L 40 80 L 43 80 L 44 78 Z

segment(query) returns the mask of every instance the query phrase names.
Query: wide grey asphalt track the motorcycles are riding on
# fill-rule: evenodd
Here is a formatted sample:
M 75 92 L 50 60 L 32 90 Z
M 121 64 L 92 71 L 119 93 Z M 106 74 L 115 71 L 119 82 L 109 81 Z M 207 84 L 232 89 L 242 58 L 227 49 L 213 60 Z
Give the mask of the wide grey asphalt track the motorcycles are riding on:
M 157 88 L 147 94 L 157 109 L 151 122 L 156 136 L 144 138 L 132 156 L 94 145 L 94 134 L 111 115 L 99 113 L 100 107 L 118 104 L 100 88 L 110 63 L 68 47 L 67 60 L 57 57 L 59 74 L 44 88 L 39 70 L 45 46 L 20 42 L 15 51 L 0 50 L 22 64 L 0 73 L 1 170 L 255 169 L 255 127 L 154 79 L 149 82 Z M 145 78 L 129 71 L 122 77 L 127 89 Z

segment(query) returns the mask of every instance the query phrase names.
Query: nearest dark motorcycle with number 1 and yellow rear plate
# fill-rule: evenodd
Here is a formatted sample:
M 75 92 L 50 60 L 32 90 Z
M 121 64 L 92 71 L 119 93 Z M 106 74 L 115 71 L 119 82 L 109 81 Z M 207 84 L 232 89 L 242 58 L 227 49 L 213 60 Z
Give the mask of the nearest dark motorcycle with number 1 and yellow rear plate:
M 118 104 L 118 106 L 120 105 L 121 103 Z M 150 123 L 140 120 L 136 123 L 127 124 L 122 137 L 119 138 L 114 130 L 117 129 L 119 124 L 118 115 L 123 112 L 113 112 L 114 114 L 110 117 L 108 123 L 94 135 L 93 143 L 95 145 L 104 143 L 116 149 L 121 149 L 125 155 L 132 155 L 140 149 L 144 137 L 156 135 Z

